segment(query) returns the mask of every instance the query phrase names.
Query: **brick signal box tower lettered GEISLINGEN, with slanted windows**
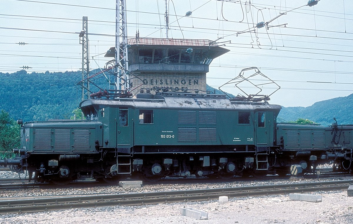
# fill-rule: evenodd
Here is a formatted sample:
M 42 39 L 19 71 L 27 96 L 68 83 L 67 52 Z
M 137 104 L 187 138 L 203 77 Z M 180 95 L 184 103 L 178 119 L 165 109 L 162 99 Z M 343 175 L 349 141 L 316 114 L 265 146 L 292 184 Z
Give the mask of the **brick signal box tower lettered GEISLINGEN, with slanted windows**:
M 156 92 L 206 92 L 211 61 L 228 52 L 206 39 L 127 39 L 132 95 Z M 115 47 L 105 57 L 115 57 Z

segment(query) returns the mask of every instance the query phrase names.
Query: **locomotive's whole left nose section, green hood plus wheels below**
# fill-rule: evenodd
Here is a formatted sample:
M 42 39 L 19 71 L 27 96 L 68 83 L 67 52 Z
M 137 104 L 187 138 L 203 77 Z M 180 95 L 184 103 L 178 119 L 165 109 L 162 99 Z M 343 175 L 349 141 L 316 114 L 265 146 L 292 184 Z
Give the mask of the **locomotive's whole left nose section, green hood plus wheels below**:
M 21 126 L 16 149 L 18 172 L 35 178 L 69 179 L 100 157 L 102 123 L 97 121 L 29 122 Z M 80 168 L 77 168 L 80 164 Z M 94 168 L 97 169 L 97 168 Z

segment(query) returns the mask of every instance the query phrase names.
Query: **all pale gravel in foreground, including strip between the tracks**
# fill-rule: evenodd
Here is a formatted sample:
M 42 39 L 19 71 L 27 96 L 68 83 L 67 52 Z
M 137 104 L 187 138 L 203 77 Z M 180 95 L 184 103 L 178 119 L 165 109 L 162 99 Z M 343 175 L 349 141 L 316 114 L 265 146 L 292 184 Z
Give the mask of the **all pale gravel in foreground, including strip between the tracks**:
M 10 172 L 11 173 L 11 172 Z M 10 175 L 1 174 L 1 177 Z M 18 177 L 18 175 L 17 175 Z M 339 178 L 321 178 L 319 181 L 334 181 Z M 316 179 L 291 181 L 288 179 L 255 181 L 232 179 L 226 182 L 173 184 L 159 182 L 143 185 L 141 188 L 123 189 L 120 186 L 34 188 L 0 191 L 0 199 L 13 197 L 80 195 L 92 193 L 138 193 L 156 191 L 178 191 L 186 189 L 221 188 L 285 184 L 293 182 L 317 182 Z M 264 197 L 229 198 L 229 202 L 219 205 L 217 200 L 185 202 L 143 206 L 114 206 L 85 209 L 70 209 L 38 213 L 16 213 L 0 215 L 0 224 L 48 224 L 48 223 L 353 223 L 353 197 L 347 191 L 310 192 L 322 195 L 322 202 L 289 200 L 289 195 L 269 195 Z M 208 212 L 208 220 L 195 220 L 180 214 L 180 207 L 187 206 Z

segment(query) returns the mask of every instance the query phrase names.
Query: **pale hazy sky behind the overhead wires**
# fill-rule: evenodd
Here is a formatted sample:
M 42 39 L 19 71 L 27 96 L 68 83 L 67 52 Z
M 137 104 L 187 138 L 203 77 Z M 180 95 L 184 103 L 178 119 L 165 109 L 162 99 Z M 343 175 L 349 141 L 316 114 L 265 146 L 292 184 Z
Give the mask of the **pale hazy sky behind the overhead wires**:
M 82 45 L 75 32 L 82 30 L 83 16 L 88 17 L 92 33 L 90 68 L 103 67 L 108 61 L 96 55 L 114 46 L 114 0 L 0 2 L 0 72 L 12 73 L 22 66 L 32 67 L 28 73 L 79 70 Z M 310 106 L 353 93 L 353 1 L 320 0 L 313 7 L 304 6 L 306 0 L 254 0 L 251 6 L 245 0 L 168 0 L 167 4 L 169 38 L 231 41 L 223 46 L 230 51 L 210 65 L 207 83 L 214 88 L 243 68 L 258 67 L 281 86 L 271 95 L 271 104 Z M 164 0 L 126 0 L 126 9 L 129 37 L 135 37 L 137 30 L 140 37 L 166 37 Z M 187 11 L 192 16 L 185 17 Z M 256 29 L 257 37 L 254 32 L 236 35 L 280 13 L 285 14 L 270 23 L 276 27 Z M 231 86 L 223 90 L 241 93 Z

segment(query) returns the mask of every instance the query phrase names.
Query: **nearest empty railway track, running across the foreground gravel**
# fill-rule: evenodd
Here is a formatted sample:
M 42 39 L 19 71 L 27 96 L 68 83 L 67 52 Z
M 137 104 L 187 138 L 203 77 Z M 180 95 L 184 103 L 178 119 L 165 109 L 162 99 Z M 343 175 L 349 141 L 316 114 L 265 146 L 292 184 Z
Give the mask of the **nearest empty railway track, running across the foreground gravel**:
M 26 213 L 48 210 L 62 210 L 101 206 L 137 206 L 145 204 L 175 203 L 183 201 L 204 201 L 218 199 L 219 196 L 247 197 L 270 194 L 288 194 L 312 191 L 347 189 L 353 180 L 263 185 L 232 188 L 198 189 L 187 191 L 66 195 L 50 197 L 25 197 L 0 199 L 0 213 Z

